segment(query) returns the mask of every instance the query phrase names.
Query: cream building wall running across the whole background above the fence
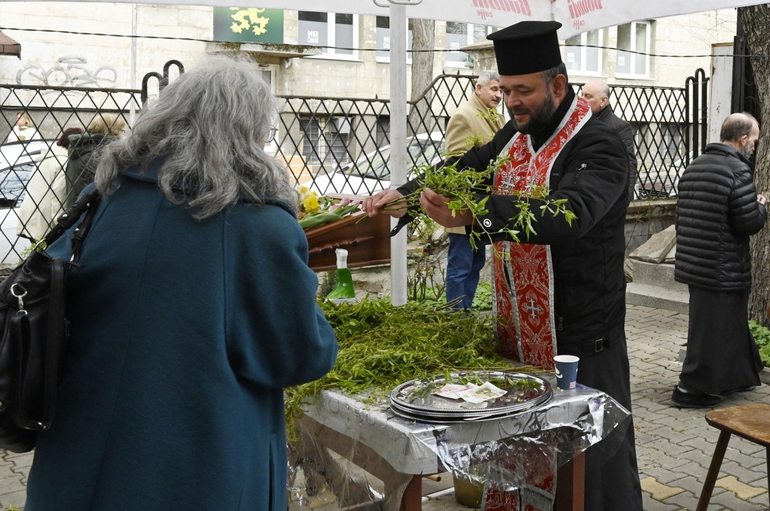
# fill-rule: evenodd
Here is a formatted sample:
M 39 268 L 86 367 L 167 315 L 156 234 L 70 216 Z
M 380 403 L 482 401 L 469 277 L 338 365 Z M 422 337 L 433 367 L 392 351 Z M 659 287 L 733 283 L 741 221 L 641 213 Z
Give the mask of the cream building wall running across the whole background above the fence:
M 202 39 L 213 38 L 213 8 L 183 5 L 137 5 L 139 35 L 169 35 Z M 376 47 L 374 16 L 359 16 L 356 45 L 363 50 Z M 731 42 L 735 34 L 735 9 L 703 12 L 695 15 L 661 18 L 651 23 L 652 53 L 709 55 L 711 45 Z M 17 28 L 42 28 L 75 32 L 101 32 L 130 35 L 132 5 L 85 2 L 3 2 L 2 25 Z M 284 15 L 284 41 L 297 42 L 297 13 Z M 45 76 L 49 85 L 85 85 L 131 88 L 141 85 L 147 72 L 160 72 L 162 65 L 176 58 L 186 66 L 195 65 L 207 51 L 215 51 L 206 42 L 166 39 L 137 40 L 136 77 L 131 76 L 131 39 L 98 35 L 70 35 L 46 32 L 5 31 L 22 43 L 22 60 L 0 57 L 0 82 L 28 85 Z M 602 44 L 614 48 L 618 29 L 604 28 Z M 446 23 L 436 22 L 435 43 L 444 48 Z M 614 49 L 602 52 L 602 75 L 609 83 L 624 85 L 681 86 L 695 68 L 710 73 L 708 56 L 701 58 L 651 58 L 651 72 L 646 79 L 615 77 Z M 441 72 L 470 74 L 494 67 L 486 55 L 476 69 L 447 67 L 444 52 L 434 54 L 434 75 Z M 264 64 L 277 65 L 276 92 L 292 95 L 327 95 L 370 98 L 390 95 L 389 64 L 377 62 L 373 51 L 362 51 L 354 60 L 334 58 L 276 58 L 255 55 Z M 571 72 L 581 82 L 591 76 Z

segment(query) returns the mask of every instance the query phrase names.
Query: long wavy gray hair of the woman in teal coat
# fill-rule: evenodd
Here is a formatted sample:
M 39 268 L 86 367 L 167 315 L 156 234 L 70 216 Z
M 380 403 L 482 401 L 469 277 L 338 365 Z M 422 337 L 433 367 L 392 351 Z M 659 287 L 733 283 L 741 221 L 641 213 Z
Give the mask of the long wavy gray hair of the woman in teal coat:
M 253 64 L 206 58 L 142 109 L 125 138 L 105 147 L 96 188 L 111 195 L 120 172 L 163 159 L 160 188 L 169 201 L 187 202 L 196 219 L 216 215 L 240 195 L 296 210 L 289 172 L 263 149 L 276 116 L 276 99 Z

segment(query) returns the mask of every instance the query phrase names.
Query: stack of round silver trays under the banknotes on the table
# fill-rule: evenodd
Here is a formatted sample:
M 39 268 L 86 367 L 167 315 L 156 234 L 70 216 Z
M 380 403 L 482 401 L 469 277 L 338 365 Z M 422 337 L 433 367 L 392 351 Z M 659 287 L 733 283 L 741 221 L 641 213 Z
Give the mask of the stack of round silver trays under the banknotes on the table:
M 507 390 L 504 396 L 480 403 L 448 399 L 433 392 L 447 382 L 466 383 L 490 381 Z M 513 371 L 452 372 L 431 379 L 413 379 L 390 392 L 390 408 L 407 419 L 423 422 L 456 422 L 462 420 L 494 419 L 524 412 L 541 406 L 551 399 L 551 384 L 547 380 Z

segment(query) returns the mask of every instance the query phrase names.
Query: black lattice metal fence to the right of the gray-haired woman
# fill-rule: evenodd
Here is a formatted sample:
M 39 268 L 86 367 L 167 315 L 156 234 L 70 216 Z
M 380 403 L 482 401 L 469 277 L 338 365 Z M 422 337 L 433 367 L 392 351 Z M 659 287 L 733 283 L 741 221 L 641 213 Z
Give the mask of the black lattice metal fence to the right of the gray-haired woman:
M 412 169 L 440 159 L 447 122 L 473 94 L 476 78 L 440 75 L 410 102 L 407 146 Z M 707 82 L 698 69 L 681 88 L 611 85 L 614 112 L 634 131 L 634 199 L 676 195 L 679 175 L 705 146 Z M 573 87 L 581 91 L 580 84 Z M 370 194 L 390 185 L 387 101 L 308 96 L 283 101 L 276 155 L 298 182 L 322 194 Z

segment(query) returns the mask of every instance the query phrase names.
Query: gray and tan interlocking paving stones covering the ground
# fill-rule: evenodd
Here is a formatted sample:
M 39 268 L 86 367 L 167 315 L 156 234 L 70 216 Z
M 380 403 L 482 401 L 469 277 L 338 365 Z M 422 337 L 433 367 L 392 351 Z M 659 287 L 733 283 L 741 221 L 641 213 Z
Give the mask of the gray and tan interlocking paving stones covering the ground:
M 628 306 L 631 394 L 645 511 L 695 509 L 719 436 L 706 424 L 708 409 L 678 409 L 669 401 L 681 369 L 678 353 L 687 339 L 687 321 L 677 312 Z M 770 386 L 731 396 L 720 406 L 751 402 L 770 404 Z M 32 455 L 0 454 L 0 509 L 21 509 Z M 708 511 L 768 511 L 766 463 L 765 449 L 732 436 Z M 469 509 L 447 490 L 451 477 L 444 476 L 440 483 L 425 480 L 423 488 L 432 495 L 423 503 L 425 511 Z M 323 506 L 323 511 L 332 508 Z

